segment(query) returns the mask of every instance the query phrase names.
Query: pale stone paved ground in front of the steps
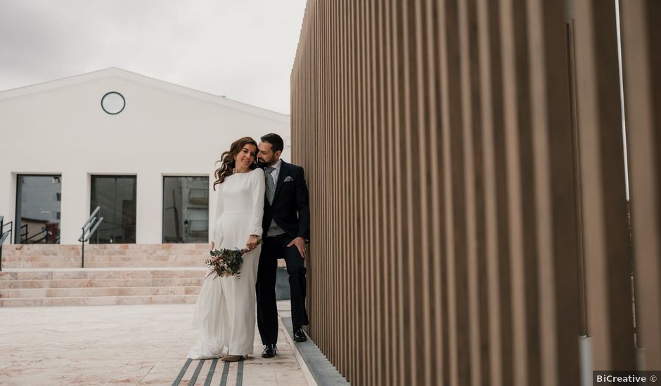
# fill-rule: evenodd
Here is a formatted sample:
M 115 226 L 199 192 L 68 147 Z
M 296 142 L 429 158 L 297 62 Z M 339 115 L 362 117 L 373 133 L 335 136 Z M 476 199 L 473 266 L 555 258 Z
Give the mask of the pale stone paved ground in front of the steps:
M 289 316 L 289 302 L 278 302 Z M 193 305 L 113 305 L 0 308 L 0 385 L 172 385 L 195 343 Z M 226 385 L 307 385 L 292 347 L 279 334 L 279 354 L 262 359 L 255 331 L 255 354 L 229 366 Z M 192 361 L 180 385 L 198 367 Z M 205 361 L 195 385 L 204 385 L 212 367 Z M 224 362 L 217 361 L 213 385 L 220 385 Z

